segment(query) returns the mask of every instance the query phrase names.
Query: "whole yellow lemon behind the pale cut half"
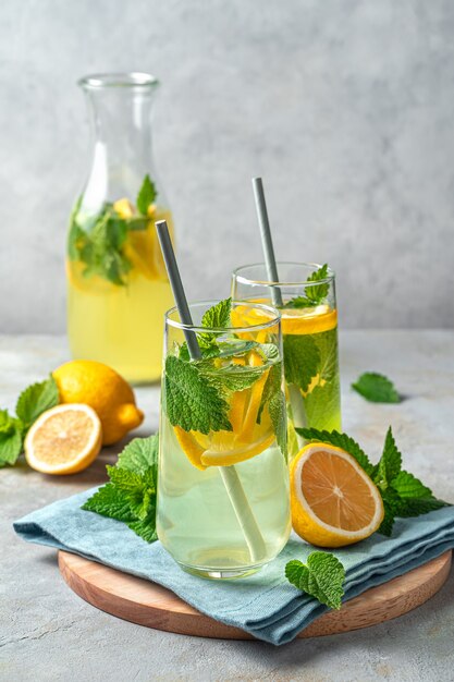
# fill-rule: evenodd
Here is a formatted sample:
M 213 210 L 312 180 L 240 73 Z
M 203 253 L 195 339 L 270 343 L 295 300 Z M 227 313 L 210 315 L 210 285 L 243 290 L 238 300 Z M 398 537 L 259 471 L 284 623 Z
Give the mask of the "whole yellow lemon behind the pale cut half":
M 144 421 L 131 386 L 114 369 L 91 360 L 74 360 L 56 369 L 62 403 L 84 403 L 102 425 L 102 444 L 111 446 Z

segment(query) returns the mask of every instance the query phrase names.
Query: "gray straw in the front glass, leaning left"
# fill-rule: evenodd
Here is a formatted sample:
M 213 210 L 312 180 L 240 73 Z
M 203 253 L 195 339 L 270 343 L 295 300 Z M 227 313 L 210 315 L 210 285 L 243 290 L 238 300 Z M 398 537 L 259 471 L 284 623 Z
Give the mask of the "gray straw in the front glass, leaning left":
M 170 240 L 169 228 L 165 220 L 159 220 L 156 224 L 158 232 L 159 243 L 161 245 L 162 255 L 165 263 L 165 268 L 169 276 L 170 285 L 172 288 L 173 296 L 175 299 L 176 307 L 179 309 L 180 319 L 183 325 L 193 326 L 193 318 L 191 316 L 189 306 L 187 305 L 186 294 L 183 288 L 183 282 L 180 277 L 180 270 L 176 263 L 175 254 L 173 251 L 172 242 Z M 196 333 L 191 329 L 183 329 L 187 350 L 192 360 L 198 360 L 201 357 L 200 348 L 197 342 Z M 234 465 L 231 466 L 218 466 L 222 482 L 225 487 L 225 491 L 229 496 L 230 502 L 238 520 L 240 526 L 243 531 L 244 538 L 249 549 L 251 561 L 260 561 L 266 555 L 266 545 L 263 537 L 258 527 L 254 512 L 250 509 L 250 504 L 247 500 L 246 494 L 242 486 L 238 473 Z

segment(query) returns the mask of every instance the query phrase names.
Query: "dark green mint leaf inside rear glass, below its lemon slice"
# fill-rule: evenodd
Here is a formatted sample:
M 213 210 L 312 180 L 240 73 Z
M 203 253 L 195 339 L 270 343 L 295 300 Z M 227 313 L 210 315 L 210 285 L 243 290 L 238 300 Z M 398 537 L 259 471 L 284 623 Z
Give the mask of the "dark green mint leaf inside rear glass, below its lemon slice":
M 287 383 L 307 391 L 317 375 L 320 351 L 310 336 L 284 334 L 284 372 Z

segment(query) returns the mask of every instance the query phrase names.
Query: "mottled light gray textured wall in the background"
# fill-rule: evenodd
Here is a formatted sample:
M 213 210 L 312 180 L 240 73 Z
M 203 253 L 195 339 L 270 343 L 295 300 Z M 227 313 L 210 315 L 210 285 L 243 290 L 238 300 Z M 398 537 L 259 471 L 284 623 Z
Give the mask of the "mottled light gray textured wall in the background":
M 328 260 L 348 327 L 454 326 L 449 0 L 2 0 L 0 319 L 62 331 L 85 73 L 151 71 L 156 156 L 192 297 L 260 257 Z

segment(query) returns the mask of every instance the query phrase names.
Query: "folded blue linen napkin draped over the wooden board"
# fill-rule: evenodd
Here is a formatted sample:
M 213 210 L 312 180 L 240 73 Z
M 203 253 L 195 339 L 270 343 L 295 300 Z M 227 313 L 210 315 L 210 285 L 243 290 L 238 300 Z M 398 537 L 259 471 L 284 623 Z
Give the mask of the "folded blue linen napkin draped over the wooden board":
M 305 561 L 314 548 L 290 539 L 268 567 L 246 579 L 206 581 L 182 571 L 159 541 L 148 545 L 118 521 L 83 511 L 97 488 L 53 502 L 14 523 L 29 543 L 49 545 L 138 575 L 173 590 L 193 607 L 255 637 L 280 645 L 329 609 L 300 593 L 284 576 L 291 559 Z M 371 538 L 334 555 L 346 569 L 345 597 L 430 561 L 454 547 L 454 507 L 395 523 L 393 536 Z

